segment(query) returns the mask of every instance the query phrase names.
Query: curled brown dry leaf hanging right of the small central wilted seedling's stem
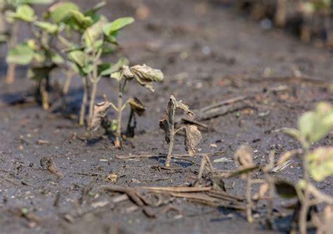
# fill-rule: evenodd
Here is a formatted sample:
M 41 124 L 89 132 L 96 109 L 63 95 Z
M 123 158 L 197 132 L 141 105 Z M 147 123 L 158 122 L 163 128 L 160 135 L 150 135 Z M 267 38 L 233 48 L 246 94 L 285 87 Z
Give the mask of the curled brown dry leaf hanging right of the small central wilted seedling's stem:
M 185 150 L 188 155 L 194 156 L 197 145 L 200 144 L 202 140 L 201 132 L 197 129 L 197 126 L 190 125 L 185 126 Z

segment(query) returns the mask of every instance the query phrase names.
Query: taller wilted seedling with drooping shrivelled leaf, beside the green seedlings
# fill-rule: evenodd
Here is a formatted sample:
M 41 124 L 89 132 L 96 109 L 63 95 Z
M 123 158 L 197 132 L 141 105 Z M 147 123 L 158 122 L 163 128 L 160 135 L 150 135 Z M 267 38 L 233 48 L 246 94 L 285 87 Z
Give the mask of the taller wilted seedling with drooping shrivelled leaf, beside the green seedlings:
M 148 67 L 147 65 L 135 65 L 133 67 L 128 66 L 129 61 L 126 59 L 120 59 L 115 68 L 111 67 L 111 75 L 110 77 L 116 79 L 118 82 L 118 101 L 117 101 L 117 132 L 116 132 L 116 140 L 115 146 L 117 148 L 122 148 L 122 111 L 126 107 L 126 104 L 129 103 L 131 105 L 131 109 L 139 114 L 144 111 L 144 106 L 142 103 L 135 101 L 135 99 L 130 98 L 123 105 L 123 93 L 126 87 L 126 84 L 130 82 L 132 79 L 136 80 L 138 84 L 145 86 L 150 91 L 154 91 L 154 87 L 152 86 L 152 82 L 160 82 L 162 81 L 164 75 L 161 70 L 153 69 L 152 67 Z M 119 69 L 116 69 L 118 68 Z M 134 108 L 134 109 L 133 109 Z M 131 120 L 131 119 L 130 119 Z

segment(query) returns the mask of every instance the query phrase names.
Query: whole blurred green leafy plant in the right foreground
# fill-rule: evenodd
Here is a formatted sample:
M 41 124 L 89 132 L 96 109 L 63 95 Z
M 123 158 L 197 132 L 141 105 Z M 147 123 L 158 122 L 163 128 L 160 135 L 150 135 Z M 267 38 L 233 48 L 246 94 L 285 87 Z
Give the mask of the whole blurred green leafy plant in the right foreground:
M 315 110 L 305 112 L 298 120 L 297 129 L 284 129 L 284 133 L 301 143 L 303 178 L 297 183 L 296 191 L 301 202 L 299 226 L 301 233 L 306 233 L 308 209 L 313 204 L 327 202 L 333 204 L 333 198 L 321 193 L 311 183 L 323 181 L 333 174 L 333 148 L 320 147 L 311 150 L 313 143 L 320 141 L 333 129 L 333 107 L 329 103 L 318 103 Z M 293 154 L 290 153 L 289 157 Z M 289 157 L 284 157 L 281 162 Z M 312 198 L 313 197 L 313 198 Z

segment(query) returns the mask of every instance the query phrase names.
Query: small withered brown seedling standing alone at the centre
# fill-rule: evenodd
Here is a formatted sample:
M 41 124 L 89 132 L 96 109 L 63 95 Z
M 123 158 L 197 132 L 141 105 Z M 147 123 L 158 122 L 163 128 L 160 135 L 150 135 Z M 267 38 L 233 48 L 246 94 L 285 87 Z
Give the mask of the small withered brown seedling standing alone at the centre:
M 188 155 L 194 156 L 197 145 L 202 141 L 201 132 L 197 129 L 197 126 L 182 126 L 180 129 L 175 131 L 175 122 L 174 115 L 176 110 L 183 110 L 188 116 L 194 116 L 195 114 L 188 108 L 188 105 L 185 105 L 181 100 L 176 100 L 174 96 L 170 96 L 168 105 L 166 106 L 166 115 L 167 119 L 159 120 L 159 127 L 165 133 L 165 141 L 169 143 L 169 151 L 166 156 L 166 167 L 170 166 L 172 151 L 174 150 L 174 136 L 181 129 L 185 130 L 185 150 L 188 152 Z

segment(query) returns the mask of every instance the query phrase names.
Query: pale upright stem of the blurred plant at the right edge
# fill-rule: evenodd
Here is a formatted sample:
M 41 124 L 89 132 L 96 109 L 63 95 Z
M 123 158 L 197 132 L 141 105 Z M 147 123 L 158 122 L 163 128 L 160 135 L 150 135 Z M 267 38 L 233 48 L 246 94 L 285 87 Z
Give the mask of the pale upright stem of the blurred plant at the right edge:
M 308 166 L 306 164 L 307 156 L 308 148 L 304 149 L 304 154 L 302 157 L 303 180 L 306 181 L 306 186 L 304 188 L 304 197 L 301 201 L 301 212 L 299 214 L 299 229 L 301 234 L 306 234 L 306 222 L 308 218 L 308 207 L 310 202 L 310 193 L 308 190 L 308 185 L 310 184 L 310 175 L 308 174 Z

